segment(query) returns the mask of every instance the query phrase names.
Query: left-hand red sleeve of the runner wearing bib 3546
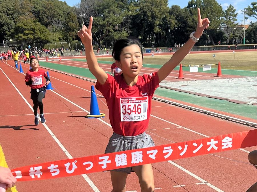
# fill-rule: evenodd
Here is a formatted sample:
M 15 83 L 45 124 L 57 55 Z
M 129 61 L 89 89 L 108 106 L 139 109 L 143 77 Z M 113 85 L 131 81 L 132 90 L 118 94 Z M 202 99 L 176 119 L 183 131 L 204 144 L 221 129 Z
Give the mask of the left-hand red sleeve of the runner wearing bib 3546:
M 107 74 L 107 76 L 108 78 L 105 81 L 105 84 L 101 85 L 99 81 L 97 81 L 95 84 L 95 88 L 103 94 L 105 99 L 108 99 L 113 95 L 115 85 L 117 84 L 113 76 L 111 76 L 110 74 Z

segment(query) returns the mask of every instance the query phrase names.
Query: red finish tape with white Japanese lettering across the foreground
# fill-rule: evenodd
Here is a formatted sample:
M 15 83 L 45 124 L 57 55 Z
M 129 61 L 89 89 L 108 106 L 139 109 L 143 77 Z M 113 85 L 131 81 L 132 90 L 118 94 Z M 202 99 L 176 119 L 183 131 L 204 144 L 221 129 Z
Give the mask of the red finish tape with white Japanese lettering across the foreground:
M 11 170 L 17 181 L 69 177 L 257 145 L 257 129 L 149 148 L 53 161 Z

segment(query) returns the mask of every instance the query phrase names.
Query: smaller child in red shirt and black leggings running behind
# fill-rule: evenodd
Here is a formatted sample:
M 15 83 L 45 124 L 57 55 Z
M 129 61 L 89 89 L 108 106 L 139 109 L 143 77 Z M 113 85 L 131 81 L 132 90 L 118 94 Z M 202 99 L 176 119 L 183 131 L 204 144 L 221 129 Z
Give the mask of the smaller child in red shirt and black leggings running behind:
M 45 73 L 44 69 L 39 68 L 39 61 L 36 58 L 30 59 L 31 69 L 26 73 L 25 83 L 31 87 L 30 98 L 33 101 L 33 110 L 35 115 L 35 125 L 39 124 L 37 107 L 39 107 L 41 123 L 45 123 L 45 116 L 43 112 L 43 98 L 45 98 L 46 87 L 43 84 L 43 77 L 47 80 L 45 83 L 48 85 L 50 79 Z

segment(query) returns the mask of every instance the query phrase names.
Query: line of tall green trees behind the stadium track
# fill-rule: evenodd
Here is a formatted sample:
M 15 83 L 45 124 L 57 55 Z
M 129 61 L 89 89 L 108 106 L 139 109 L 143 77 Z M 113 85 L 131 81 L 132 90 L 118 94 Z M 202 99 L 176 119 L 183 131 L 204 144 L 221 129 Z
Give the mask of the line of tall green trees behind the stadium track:
M 188 40 L 196 27 L 197 7 L 211 25 L 196 45 L 242 43 L 243 39 L 234 6 L 223 10 L 216 0 L 191 0 L 184 8 L 169 7 L 168 0 L 81 0 L 73 7 L 58 0 L 0 0 L 0 5 L 1 41 L 14 39 L 27 45 L 79 40 L 77 31 L 93 16 L 96 46 L 111 46 L 118 39 L 134 36 L 144 47 L 171 47 Z M 257 3 L 252 2 L 245 14 L 257 18 Z M 256 43 L 257 25 L 251 24 L 245 37 Z

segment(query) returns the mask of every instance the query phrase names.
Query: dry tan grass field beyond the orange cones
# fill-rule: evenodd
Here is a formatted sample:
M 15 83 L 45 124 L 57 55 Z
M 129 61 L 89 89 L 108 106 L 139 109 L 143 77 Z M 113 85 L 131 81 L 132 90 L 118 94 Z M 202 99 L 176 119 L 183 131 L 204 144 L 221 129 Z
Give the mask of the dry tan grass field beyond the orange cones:
M 213 54 L 215 54 L 215 61 Z M 97 58 L 99 61 L 113 61 L 112 58 Z M 154 53 L 154 57 L 145 56 L 143 63 L 163 65 L 170 59 L 169 55 L 158 55 Z M 181 61 L 182 65 L 204 65 L 217 64 L 220 61 L 222 69 L 235 69 L 246 71 L 257 71 L 257 51 L 235 52 L 229 53 L 194 53 L 187 54 Z M 217 68 L 213 65 L 212 68 Z

